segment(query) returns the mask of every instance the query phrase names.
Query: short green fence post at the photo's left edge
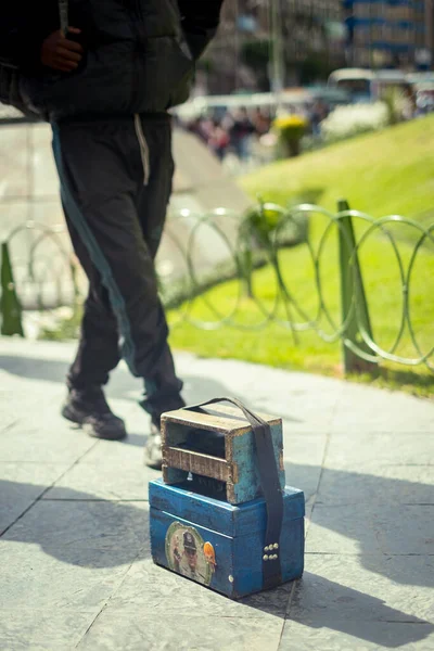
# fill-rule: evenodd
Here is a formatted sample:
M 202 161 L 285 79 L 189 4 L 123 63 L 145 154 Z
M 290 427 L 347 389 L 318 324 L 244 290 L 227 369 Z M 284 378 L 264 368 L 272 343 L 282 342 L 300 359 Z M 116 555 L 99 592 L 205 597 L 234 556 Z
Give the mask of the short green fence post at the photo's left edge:
M 22 308 L 15 291 L 8 242 L 1 244 L 0 284 L 1 334 L 24 336 Z

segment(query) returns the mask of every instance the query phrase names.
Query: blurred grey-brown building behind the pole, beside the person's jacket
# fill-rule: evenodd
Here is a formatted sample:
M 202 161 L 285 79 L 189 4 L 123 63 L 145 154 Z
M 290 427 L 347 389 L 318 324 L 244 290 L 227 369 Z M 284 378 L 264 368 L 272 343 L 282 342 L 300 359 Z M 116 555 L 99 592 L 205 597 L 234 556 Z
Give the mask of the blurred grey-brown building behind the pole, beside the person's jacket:
M 270 21 L 279 13 L 279 35 Z M 226 0 L 217 38 L 203 59 L 197 92 L 267 91 L 272 43 L 283 41 L 284 86 L 324 80 L 345 63 L 341 0 Z

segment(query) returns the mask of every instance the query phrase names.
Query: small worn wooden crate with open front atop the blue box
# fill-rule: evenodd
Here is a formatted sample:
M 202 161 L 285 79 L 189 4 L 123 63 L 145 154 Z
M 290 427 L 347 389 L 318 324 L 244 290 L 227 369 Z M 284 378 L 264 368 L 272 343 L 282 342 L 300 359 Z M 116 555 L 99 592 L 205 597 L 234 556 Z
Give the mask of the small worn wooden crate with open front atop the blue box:
M 162 416 L 163 478 L 184 482 L 189 473 L 209 480 L 220 498 L 240 505 L 261 495 L 254 434 L 235 407 L 213 405 L 204 411 L 179 409 Z M 284 488 L 282 420 L 259 414 L 270 425 L 280 485 Z

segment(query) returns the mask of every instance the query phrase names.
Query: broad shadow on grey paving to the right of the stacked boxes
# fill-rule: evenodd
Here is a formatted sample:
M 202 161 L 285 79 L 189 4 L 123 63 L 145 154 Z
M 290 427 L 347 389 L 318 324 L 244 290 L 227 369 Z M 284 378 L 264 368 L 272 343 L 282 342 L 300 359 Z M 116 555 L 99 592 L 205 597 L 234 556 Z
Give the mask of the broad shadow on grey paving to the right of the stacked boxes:
M 285 469 L 286 483 L 302 489 L 318 484 L 319 467 L 285 459 Z M 434 485 L 323 468 L 316 490 L 310 551 L 339 554 L 344 536 L 357 542 L 358 549 L 349 553 L 359 553 L 369 572 L 403 585 L 434 588 Z M 430 558 L 431 572 L 422 563 L 418 569 L 417 563 L 398 562 L 406 557 Z

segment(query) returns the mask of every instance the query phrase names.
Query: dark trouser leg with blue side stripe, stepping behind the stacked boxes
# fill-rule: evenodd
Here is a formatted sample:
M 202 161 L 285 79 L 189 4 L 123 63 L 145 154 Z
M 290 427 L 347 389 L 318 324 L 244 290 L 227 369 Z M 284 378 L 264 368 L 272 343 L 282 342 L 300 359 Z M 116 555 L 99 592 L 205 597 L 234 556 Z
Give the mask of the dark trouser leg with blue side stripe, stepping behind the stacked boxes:
M 138 216 L 138 196 L 143 186 L 153 187 L 151 164 L 158 155 L 151 152 L 154 146 L 148 145 L 141 128 L 133 117 L 56 125 L 53 146 L 68 216 L 107 290 L 123 356 L 131 372 L 146 381 L 143 406 L 157 423 L 161 412 L 180 400 L 181 383 L 167 345 L 153 254 Z M 167 133 L 167 129 L 168 120 L 153 123 L 150 140 L 154 130 Z M 153 225 L 150 219 L 151 239 L 156 232 Z

